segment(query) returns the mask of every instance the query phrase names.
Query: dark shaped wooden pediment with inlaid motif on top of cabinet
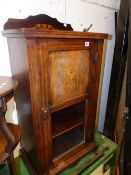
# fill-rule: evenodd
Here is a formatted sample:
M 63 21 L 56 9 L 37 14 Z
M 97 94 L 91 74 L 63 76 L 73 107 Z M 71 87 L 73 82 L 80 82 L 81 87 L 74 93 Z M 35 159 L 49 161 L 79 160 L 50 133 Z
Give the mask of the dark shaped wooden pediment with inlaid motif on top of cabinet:
M 19 28 L 73 31 L 70 24 L 67 24 L 66 26 L 64 26 L 64 23 L 61 23 L 56 18 L 52 18 L 45 14 L 29 16 L 25 19 L 9 18 L 4 25 L 4 30 L 19 29 Z

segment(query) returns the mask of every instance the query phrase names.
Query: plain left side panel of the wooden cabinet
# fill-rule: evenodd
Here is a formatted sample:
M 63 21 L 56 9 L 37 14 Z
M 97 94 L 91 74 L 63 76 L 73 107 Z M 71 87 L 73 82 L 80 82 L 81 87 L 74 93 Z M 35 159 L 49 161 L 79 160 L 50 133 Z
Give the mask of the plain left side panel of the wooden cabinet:
M 8 48 L 12 76 L 19 83 L 15 93 L 15 101 L 18 120 L 22 129 L 21 146 L 32 157 L 35 145 L 26 40 L 24 38 L 8 38 Z

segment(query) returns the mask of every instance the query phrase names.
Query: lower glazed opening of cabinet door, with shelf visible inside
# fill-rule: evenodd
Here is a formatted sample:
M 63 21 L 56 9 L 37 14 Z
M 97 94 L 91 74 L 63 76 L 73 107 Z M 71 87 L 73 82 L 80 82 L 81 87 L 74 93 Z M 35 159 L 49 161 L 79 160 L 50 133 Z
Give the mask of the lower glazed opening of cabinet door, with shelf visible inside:
M 85 101 L 51 115 L 54 158 L 84 142 Z

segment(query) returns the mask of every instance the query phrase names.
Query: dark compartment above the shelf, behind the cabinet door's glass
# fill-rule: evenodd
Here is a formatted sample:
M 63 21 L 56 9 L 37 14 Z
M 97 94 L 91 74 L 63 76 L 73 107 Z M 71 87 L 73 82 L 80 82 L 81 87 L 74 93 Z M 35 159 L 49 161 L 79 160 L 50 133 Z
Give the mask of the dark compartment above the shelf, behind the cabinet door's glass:
M 54 112 L 51 115 L 52 139 L 74 129 L 84 126 L 85 101 Z

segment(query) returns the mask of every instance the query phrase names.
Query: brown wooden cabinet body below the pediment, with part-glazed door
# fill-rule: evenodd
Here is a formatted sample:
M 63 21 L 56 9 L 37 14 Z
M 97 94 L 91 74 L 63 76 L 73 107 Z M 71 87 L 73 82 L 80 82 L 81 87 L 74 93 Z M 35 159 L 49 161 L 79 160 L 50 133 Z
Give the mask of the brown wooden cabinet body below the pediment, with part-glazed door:
M 95 119 L 108 35 L 50 30 L 49 24 L 3 35 L 19 81 L 15 97 L 22 149 L 38 174 L 58 174 L 97 147 Z

